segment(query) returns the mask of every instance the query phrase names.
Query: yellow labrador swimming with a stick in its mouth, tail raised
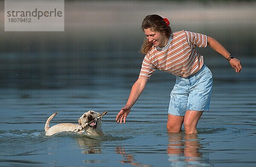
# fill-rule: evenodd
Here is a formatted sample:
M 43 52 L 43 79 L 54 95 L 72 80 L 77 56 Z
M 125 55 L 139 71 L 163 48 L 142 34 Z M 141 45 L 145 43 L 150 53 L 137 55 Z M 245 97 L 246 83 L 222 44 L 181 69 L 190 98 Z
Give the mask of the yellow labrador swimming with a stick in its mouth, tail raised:
M 78 124 L 61 123 L 50 127 L 50 122 L 55 115 L 57 115 L 57 113 L 52 114 L 45 123 L 44 130 L 46 131 L 46 136 L 69 131 L 92 136 L 103 135 L 101 117 L 105 115 L 105 113 L 100 114 L 96 111 L 89 110 L 78 119 Z

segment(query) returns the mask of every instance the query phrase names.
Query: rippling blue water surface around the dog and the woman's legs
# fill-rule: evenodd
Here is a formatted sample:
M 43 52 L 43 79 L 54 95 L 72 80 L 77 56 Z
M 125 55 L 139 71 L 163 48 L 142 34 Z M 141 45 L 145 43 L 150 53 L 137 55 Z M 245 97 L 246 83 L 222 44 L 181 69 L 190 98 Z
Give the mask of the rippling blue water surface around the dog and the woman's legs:
M 117 125 L 116 113 L 125 105 L 143 57 L 135 54 L 126 61 L 124 55 L 134 52 L 123 52 L 122 61 L 119 53 L 93 53 L 92 59 L 78 55 L 80 61 L 70 63 L 58 54 L 49 54 L 41 62 L 40 55 L 31 54 L 22 61 L 14 61 L 18 54 L 2 55 L 6 69 L 0 88 L 2 167 L 256 165 L 256 66 L 251 57 L 243 58 L 241 74 L 221 58 L 205 57 L 214 76 L 211 107 L 198 123 L 198 134 L 186 135 L 166 131 L 174 76 L 157 71 L 127 123 Z M 52 120 L 55 125 L 77 123 L 87 110 L 108 110 L 102 118 L 105 136 L 45 136 L 44 124 L 52 113 L 58 111 Z

